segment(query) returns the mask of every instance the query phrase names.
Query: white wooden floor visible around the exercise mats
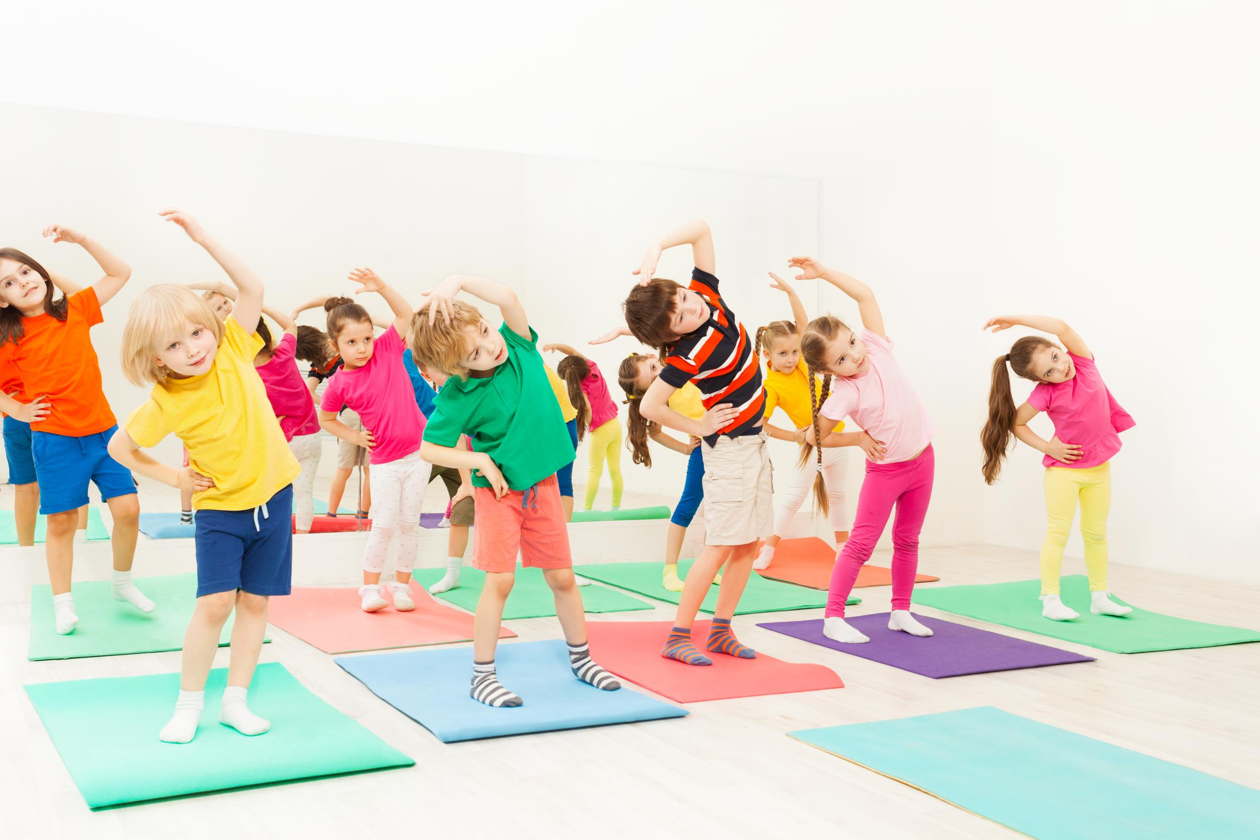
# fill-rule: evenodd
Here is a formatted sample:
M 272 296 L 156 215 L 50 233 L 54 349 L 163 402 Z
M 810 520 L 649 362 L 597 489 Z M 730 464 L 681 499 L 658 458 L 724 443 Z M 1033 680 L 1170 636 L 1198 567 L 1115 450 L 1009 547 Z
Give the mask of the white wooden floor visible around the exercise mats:
M 188 548 L 176 550 L 190 550 L 190 543 L 180 544 Z M 89 545 L 83 554 L 100 553 L 94 558 L 100 564 L 107 547 Z M 645 548 L 651 554 L 659 550 Z M 320 550 L 344 557 L 346 545 L 305 540 L 307 558 L 315 559 Z M 886 565 L 888 558 L 877 554 L 873 562 Z M 966 545 L 924 549 L 921 569 L 939 574 L 944 586 L 1029 578 L 1036 564 L 1033 552 Z M 353 558 L 348 565 L 354 568 Z M 1079 565 L 1068 562 L 1066 572 L 1077 572 Z M 1145 608 L 1260 626 L 1260 587 L 1121 565 L 1111 574 L 1114 589 Z M 888 608 L 887 587 L 859 594 L 863 603 L 852 608 L 853 615 Z M 672 617 L 667 604 L 654 613 L 592 620 Z M 263 649 L 262 661 L 284 662 L 328 703 L 413 757 L 416 766 L 93 814 L 21 685 L 176 671 L 179 654 L 28 662 L 29 606 L 0 603 L 0 837 L 461 837 L 480 834 L 479 822 L 495 826 L 490 836 L 517 837 L 1016 836 L 784 734 L 974 705 L 997 705 L 1260 787 L 1260 645 L 1125 656 L 995 628 L 1080 650 L 1099 661 L 930 680 L 760 630 L 759 620 L 736 620 L 742 641 L 785 660 L 829 665 L 847 688 L 698 703 L 688 707 L 690 717 L 679 720 L 461 744 L 440 743 L 343 673 L 330 656 L 272 628 L 275 644 Z M 558 637 L 554 618 L 510 625 L 522 640 Z M 227 649 L 215 665 L 227 665 Z M 154 722 L 155 737 L 160 724 Z M 1028 756 L 1029 763 L 1036 761 Z

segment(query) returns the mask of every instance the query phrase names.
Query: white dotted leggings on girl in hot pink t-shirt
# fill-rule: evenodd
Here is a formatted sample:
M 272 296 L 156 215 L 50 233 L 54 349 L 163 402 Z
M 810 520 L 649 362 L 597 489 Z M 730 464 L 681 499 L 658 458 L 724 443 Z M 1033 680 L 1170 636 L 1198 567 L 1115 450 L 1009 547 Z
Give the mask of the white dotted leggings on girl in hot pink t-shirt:
M 386 554 L 394 530 L 398 531 L 398 554 L 394 572 L 411 573 L 420 547 L 420 509 L 432 466 L 412 452 L 404 458 L 372 465 L 372 530 L 363 549 L 363 569 L 379 574 L 386 568 Z

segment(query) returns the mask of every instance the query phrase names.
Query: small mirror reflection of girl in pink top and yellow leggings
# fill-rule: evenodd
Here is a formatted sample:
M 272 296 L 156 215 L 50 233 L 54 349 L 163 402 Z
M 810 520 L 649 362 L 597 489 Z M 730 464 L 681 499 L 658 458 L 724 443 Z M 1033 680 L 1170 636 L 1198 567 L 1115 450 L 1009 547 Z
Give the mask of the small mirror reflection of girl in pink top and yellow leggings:
M 598 365 L 567 344 L 544 344 L 543 353 L 559 351 L 564 358 L 556 365 L 556 373 L 564 380 L 568 399 L 577 409 L 577 440 L 591 432 L 590 462 L 591 471 L 586 476 L 586 510 L 595 505 L 595 494 L 600 491 L 600 477 L 604 475 L 604 462 L 609 462 L 609 479 L 612 480 L 612 510 L 621 506 L 621 421 L 617 419 L 617 404 L 609 394 L 609 383 L 600 373 Z

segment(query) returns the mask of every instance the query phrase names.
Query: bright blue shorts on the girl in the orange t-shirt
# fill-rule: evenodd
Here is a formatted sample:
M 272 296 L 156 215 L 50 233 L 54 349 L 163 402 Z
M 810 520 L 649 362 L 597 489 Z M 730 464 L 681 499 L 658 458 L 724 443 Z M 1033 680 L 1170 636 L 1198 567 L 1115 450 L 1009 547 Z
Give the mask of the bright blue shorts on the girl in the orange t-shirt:
M 39 513 L 60 514 L 82 508 L 87 504 L 89 481 L 96 484 L 101 501 L 136 491 L 131 471 L 106 451 L 117 431 L 117 426 L 111 426 L 83 437 L 38 429 L 30 433 L 30 451 L 39 477 Z

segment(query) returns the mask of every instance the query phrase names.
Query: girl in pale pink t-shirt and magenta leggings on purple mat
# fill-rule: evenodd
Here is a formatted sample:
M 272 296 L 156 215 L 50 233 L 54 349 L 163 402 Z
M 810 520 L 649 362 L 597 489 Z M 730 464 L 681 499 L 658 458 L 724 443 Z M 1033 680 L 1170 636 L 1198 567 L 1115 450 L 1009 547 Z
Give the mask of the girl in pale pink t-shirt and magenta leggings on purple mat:
M 919 531 L 932 496 L 936 457 L 931 440 L 936 426 L 892 355 L 892 341 L 885 334 L 883 314 L 871 287 L 810 257 L 794 257 L 789 264 L 801 270 L 796 280 L 825 280 L 857 301 L 863 326 L 858 335 L 827 315 L 810 321 L 800 339 L 800 354 L 810 373 L 823 377 L 818 399 L 810 394 L 814 427 L 806 432 L 806 443 L 856 445 L 867 456 L 849 542 L 832 570 L 823 635 L 847 644 L 871 641 L 845 623 L 844 602 L 896 506 L 888 630 L 931 636 L 932 631 L 910 615 L 910 596 L 919 569 Z M 845 416 L 863 429 L 856 441 L 852 432 L 833 432 Z

